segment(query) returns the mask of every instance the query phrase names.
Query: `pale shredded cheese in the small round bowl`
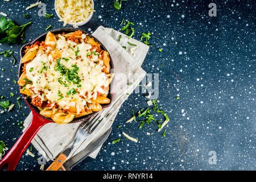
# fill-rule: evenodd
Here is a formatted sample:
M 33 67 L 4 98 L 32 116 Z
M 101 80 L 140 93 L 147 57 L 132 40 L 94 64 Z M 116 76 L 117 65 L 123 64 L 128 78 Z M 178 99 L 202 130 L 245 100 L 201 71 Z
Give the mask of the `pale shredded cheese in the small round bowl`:
M 55 2 L 57 13 L 61 16 L 60 22 L 79 23 L 84 22 L 93 12 L 90 0 L 57 0 Z

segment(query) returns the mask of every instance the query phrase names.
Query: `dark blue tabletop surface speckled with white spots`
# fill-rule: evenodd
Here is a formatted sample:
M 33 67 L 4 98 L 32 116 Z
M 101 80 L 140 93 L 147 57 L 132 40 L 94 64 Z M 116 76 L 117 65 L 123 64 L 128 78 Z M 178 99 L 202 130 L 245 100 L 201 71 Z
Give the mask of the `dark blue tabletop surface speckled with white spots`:
M 25 32 L 28 42 L 46 32 L 49 24 L 49 30 L 63 27 L 57 21 L 53 1 L 42 1 L 47 13 L 54 14 L 49 19 L 38 16 L 38 7 L 25 10 L 34 2 L 13 0 L 0 5 L 0 10 L 16 23 L 32 22 Z M 159 105 L 168 113 L 170 123 L 166 137 L 156 131 L 156 122 L 145 124 L 141 130 L 138 122 L 126 124 L 132 109 L 147 107 L 144 94 L 131 94 L 119 110 L 100 154 L 96 159 L 85 159 L 74 170 L 256 169 L 255 4 L 212 1 L 217 4 L 217 16 L 210 17 L 210 2 L 128 0 L 116 10 L 113 1 L 94 1 L 96 12 L 80 27 L 82 30 L 93 32 L 102 25 L 121 31 L 119 24 L 124 18 L 135 23 L 134 38 L 152 32 L 149 42 L 154 46 L 142 68 L 147 73 L 159 73 Z M 15 49 L 14 56 L 19 60 L 19 48 L 16 44 L 1 44 L 0 52 Z M 21 96 L 18 84 L 13 83 L 18 78 L 18 63 L 13 67 L 10 60 L 0 56 L 0 95 L 16 104 Z M 10 97 L 10 92 L 15 96 Z M 16 105 L 12 111 L 0 114 L 0 140 L 8 148 L 22 134 L 18 123 L 30 112 L 24 101 L 20 103 L 21 110 Z M 161 115 L 157 118 L 164 119 Z M 122 131 L 139 142 L 126 140 Z M 121 142 L 111 144 L 118 138 Z M 216 152 L 216 164 L 209 164 L 209 151 Z M 32 152 L 37 154 L 35 149 Z M 39 170 L 38 157 L 23 155 L 16 169 Z

